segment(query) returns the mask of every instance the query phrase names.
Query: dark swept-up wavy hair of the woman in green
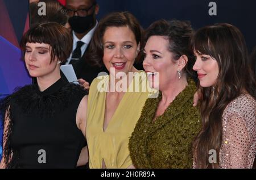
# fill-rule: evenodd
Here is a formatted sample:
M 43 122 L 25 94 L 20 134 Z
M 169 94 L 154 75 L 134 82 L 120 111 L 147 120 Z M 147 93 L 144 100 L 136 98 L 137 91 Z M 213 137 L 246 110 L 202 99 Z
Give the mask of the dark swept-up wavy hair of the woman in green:
M 180 56 L 187 56 L 188 62 L 183 69 L 187 75 L 195 77 L 196 73 L 192 70 L 195 58 L 190 48 L 190 41 L 193 29 L 189 21 L 180 20 L 157 20 L 152 23 L 144 33 L 143 47 L 151 36 L 164 36 L 169 41 L 168 51 L 174 54 L 174 60 L 179 60 Z

